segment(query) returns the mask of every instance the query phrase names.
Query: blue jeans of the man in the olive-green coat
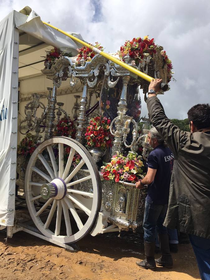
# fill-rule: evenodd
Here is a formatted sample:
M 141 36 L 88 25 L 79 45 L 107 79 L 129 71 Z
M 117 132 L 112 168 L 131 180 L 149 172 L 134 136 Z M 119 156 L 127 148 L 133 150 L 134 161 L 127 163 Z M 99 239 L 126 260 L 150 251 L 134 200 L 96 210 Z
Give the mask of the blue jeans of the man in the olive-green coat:
M 210 280 L 210 239 L 189 234 L 200 276 L 202 280 Z

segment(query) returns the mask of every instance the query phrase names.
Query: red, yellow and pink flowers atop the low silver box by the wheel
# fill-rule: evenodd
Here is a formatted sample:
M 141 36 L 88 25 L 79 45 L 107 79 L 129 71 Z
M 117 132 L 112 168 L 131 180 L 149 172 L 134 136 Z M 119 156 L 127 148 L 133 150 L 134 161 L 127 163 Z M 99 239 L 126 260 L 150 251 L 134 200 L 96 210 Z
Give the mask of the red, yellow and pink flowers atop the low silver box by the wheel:
M 129 152 L 127 156 L 123 156 L 117 152 L 117 155 L 111 158 L 111 162 L 105 166 L 101 166 L 103 178 L 115 183 L 119 181 L 128 181 L 135 183 L 144 177 L 141 169 L 143 162 L 141 156 L 136 153 Z

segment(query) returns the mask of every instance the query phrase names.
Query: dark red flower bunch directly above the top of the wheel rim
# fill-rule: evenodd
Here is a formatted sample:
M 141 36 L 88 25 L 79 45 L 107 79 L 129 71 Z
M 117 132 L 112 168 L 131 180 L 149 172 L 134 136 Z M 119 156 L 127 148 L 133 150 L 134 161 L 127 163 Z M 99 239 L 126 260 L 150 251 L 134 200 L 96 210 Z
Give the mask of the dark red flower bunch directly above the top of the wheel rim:
M 70 117 L 61 119 L 56 128 L 54 135 L 55 136 L 66 136 L 70 138 L 75 138 L 76 129 L 74 126 L 74 122 L 70 119 Z

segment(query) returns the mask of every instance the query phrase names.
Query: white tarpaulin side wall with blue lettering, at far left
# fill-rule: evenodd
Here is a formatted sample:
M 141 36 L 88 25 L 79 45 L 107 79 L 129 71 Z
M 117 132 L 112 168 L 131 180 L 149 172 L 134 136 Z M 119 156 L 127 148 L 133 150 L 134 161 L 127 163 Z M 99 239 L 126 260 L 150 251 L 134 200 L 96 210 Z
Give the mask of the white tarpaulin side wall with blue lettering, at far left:
M 0 22 L 0 225 L 7 226 L 15 215 L 19 32 L 14 27 L 11 12 Z

